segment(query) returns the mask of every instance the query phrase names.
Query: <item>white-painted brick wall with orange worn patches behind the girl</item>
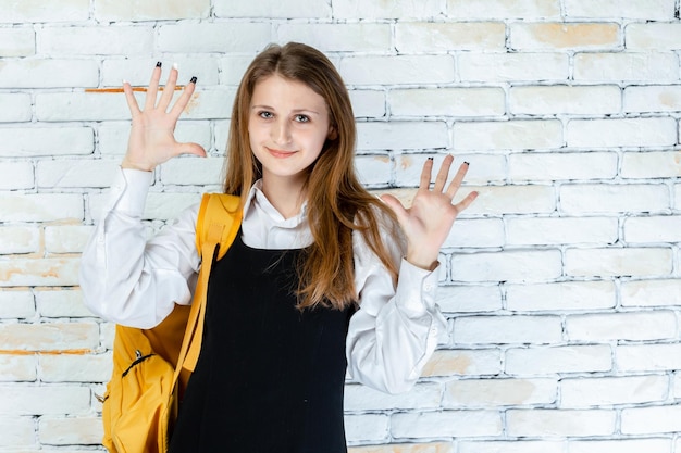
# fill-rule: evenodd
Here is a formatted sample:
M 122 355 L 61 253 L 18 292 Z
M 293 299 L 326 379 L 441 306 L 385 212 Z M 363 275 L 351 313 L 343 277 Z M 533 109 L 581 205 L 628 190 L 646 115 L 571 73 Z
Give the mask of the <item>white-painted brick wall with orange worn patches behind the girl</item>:
M 0 0 L 0 452 L 101 451 L 113 326 L 78 254 L 125 150 L 117 88 L 198 77 L 209 159 L 156 172 L 159 228 L 220 186 L 268 42 L 326 52 L 359 174 L 409 200 L 424 159 L 481 196 L 442 253 L 449 339 L 409 393 L 346 389 L 352 453 L 681 452 L 680 0 Z

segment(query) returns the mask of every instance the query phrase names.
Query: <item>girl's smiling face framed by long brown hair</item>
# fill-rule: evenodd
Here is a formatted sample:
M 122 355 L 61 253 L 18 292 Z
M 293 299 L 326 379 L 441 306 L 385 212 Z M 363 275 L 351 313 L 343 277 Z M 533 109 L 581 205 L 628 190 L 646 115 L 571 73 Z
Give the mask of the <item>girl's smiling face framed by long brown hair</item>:
M 263 178 L 305 177 L 331 134 L 326 102 L 307 85 L 277 74 L 256 84 L 248 135 Z

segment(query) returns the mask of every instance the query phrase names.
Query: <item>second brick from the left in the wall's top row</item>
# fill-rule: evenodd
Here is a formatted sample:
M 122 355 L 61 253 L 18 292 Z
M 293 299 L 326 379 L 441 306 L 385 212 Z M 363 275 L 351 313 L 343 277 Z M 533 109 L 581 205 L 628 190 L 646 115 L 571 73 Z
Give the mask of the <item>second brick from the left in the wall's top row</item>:
M 171 0 L 164 2 L 135 0 L 97 0 L 98 22 L 160 21 L 207 18 L 210 0 Z

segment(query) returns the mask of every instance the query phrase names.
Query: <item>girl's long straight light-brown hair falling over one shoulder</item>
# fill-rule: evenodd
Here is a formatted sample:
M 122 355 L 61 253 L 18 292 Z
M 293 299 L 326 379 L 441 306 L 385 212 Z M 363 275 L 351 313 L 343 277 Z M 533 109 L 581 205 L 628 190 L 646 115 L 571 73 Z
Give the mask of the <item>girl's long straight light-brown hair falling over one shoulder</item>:
M 248 117 L 256 85 L 274 74 L 300 81 L 324 98 L 335 131 L 308 168 L 308 221 L 314 241 L 298 266 L 298 305 L 344 309 L 357 298 L 352 230 L 361 231 L 395 280 L 397 268 L 381 239 L 379 216 L 382 213 L 387 218 L 388 230 L 395 237 L 397 223 L 392 210 L 359 183 L 354 165 L 357 133 L 350 98 L 340 75 L 322 52 L 297 42 L 271 45 L 249 65 L 232 111 L 224 191 L 246 202 L 250 187 L 262 176 L 262 166 L 250 150 Z

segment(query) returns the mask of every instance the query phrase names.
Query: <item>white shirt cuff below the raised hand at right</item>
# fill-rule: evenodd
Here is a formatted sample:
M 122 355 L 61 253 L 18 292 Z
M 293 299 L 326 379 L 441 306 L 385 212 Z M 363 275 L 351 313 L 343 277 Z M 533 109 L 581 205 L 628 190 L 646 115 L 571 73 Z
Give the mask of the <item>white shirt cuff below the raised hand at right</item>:
M 409 317 L 423 316 L 435 307 L 437 269 L 425 270 L 403 259 L 397 278 L 396 302 Z

